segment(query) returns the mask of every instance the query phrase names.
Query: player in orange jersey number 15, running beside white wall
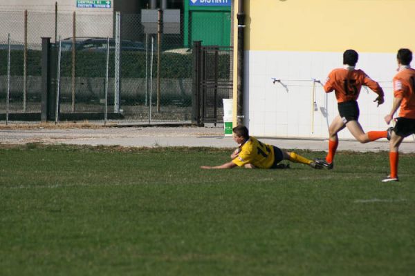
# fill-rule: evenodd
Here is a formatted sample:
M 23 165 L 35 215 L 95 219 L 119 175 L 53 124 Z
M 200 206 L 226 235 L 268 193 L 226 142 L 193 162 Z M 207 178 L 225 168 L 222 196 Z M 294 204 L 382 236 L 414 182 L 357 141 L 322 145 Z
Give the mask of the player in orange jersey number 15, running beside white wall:
M 339 115 L 333 119 L 329 127 L 329 153 L 325 159 L 315 159 L 318 164 L 329 170 L 333 168 L 333 159 L 339 144 L 338 132 L 343 128 L 347 127 L 360 143 L 389 137 L 388 130 L 365 133 L 359 124 L 357 99 L 362 86 L 367 86 L 378 94 L 378 97 L 374 100 L 378 102 L 378 106 L 385 100 L 383 99 L 383 90 L 379 84 L 369 78 L 362 70 L 355 69 L 358 58 L 358 52 L 355 50 L 344 51 L 343 68 L 332 70 L 326 80 L 326 84 L 324 84 L 326 93 L 334 90 L 339 110 Z

